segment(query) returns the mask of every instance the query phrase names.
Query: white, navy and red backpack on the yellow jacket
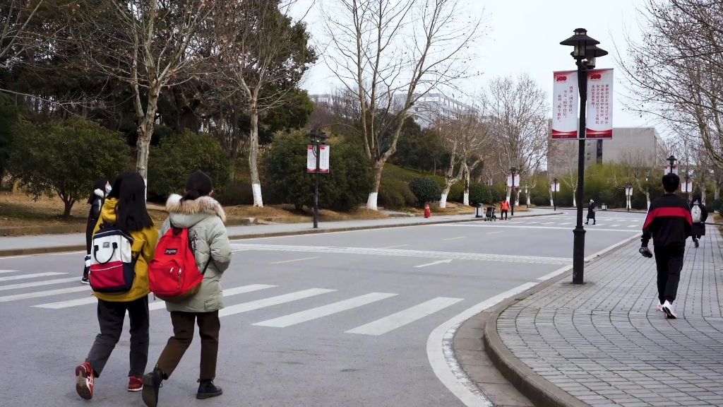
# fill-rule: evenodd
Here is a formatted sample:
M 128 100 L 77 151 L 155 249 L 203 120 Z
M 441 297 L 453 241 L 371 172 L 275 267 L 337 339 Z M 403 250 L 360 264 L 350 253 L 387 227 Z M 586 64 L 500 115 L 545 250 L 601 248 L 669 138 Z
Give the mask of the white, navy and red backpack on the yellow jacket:
M 133 238 L 116 227 L 103 223 L 93 235 L 90 246 L 90 287 L 98 293 L 124 293 L 131 289 L 135 279 Z

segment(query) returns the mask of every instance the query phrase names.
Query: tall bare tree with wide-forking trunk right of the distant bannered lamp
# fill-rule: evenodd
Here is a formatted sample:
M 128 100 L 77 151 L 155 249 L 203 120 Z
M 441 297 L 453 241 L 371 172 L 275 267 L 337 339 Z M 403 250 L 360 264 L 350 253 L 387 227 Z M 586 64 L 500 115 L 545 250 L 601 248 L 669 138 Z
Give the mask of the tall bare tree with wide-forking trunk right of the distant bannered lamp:
M 434 89 L 469 75 L 469 49 L 481 20 L 459 0 L 333 0 L 322 7 L 330 39 L 326 62 L 359 106 L 364 152 L 377 209 L 385 162 L 408 111 Z

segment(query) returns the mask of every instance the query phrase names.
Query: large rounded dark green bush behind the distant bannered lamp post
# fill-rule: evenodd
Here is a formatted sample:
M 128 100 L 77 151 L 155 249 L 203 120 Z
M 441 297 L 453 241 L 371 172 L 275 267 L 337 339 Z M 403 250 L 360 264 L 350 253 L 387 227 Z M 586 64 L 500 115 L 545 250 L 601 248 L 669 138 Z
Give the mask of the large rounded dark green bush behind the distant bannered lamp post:
M 314 206 L 315 175 L 307 173 L 304 130 L 277 133 L 263 160 L 265 190 L 271 201 L 291 203 L 297 209 Z M 361 149 L 331 140 L 329 172 L 320 176 L 319 206 L 346 211 L 369 196 L 374 181 L 371 161 Z

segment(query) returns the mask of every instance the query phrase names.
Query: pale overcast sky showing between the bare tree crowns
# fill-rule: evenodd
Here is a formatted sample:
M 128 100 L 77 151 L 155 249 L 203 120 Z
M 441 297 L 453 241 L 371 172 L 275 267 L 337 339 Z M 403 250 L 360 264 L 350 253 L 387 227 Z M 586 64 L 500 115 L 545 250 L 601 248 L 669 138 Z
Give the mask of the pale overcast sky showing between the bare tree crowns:
M 331 0 L 326 0 L 331 1 Z M 476 68 L 484 72 L 469 83 L 469 88 L 482 89 L 487 80 L 500 75 L 526 72 L 547 91 L 552 105 L 552 72 L 575 70 L 570 56 L 572 47 L 560 41 L 573 35 L 576 28 L 586 28 L 588 35 L 600 41 L 599 47 L 610 54 L 598 59 L 597 68 L 616 68 L 613 125 L 634 127 L 654 125 L 651 119 L 625 111 L 623 98 L 627 91 L 620 83 L 623 71 L 615 64 L 615 46 L 625 56 L 625 31 L 639 38 L 636 7 L 641 0 L 468 0 L 474 14 L 484 14 L 491 31 L 479 42 Z M 311 11 L 305 18 L 309 32 L 319 43 L 325 23 L 320 20 L 319 2 L 299 0 L 296 7 Z M 315 28 L 315 26 L 317 28 Z M 303 88 L 309 93 L 328 93 L 338 80 L 323 60 L 312 67 Z M 468 88 L 468 86 L 465 86 Z M 469 91 L 468 93 L 479 93 Z M 552 110 L 550 111 L 552 114 Z M 662 129 L 658 129 L 659 131 Z

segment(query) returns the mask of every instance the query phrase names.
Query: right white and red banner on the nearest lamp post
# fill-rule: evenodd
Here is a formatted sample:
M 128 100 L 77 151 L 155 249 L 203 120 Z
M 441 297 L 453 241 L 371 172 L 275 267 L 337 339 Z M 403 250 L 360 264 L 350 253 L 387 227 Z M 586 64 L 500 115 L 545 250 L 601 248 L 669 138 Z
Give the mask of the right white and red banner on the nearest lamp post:
M 612 138 L 612 69 L 589 70 L 585 137 Z

